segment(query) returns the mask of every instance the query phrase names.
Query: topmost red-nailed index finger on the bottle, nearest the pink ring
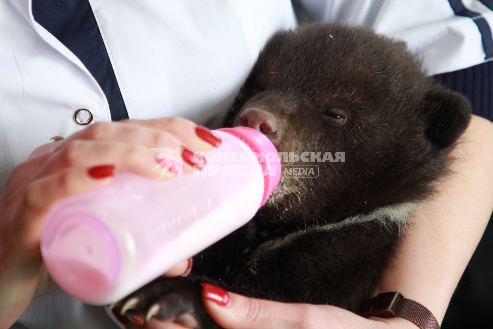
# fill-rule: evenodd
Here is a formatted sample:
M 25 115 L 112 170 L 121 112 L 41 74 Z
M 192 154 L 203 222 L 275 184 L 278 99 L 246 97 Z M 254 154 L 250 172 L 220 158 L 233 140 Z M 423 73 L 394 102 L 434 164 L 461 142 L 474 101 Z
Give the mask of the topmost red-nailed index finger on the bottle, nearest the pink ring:
M 185 146 L 196 150 L 209 150 L 212 147 L 219 146 L 221 143 L 221 139 L 214 135 L 208 128 L 198 126 L 192 121 L 179 116 L 151 120 L 127 119 L 118 123 L 169 132 L 182 141 Z

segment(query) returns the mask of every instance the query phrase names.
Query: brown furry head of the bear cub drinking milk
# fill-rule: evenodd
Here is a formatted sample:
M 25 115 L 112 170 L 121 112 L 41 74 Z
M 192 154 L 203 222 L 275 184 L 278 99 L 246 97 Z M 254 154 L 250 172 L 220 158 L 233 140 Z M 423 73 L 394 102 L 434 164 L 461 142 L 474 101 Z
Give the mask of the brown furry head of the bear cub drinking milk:
M 268 41 L 227 125 L 261 131 L 279 152 L 310 152 L 309 162 L 282 164 L 316 165 L 317 177 L 282 173 L 261 215 L 311 225 L 429 196 L 470 112 L 463 96 L 426 77 L 402 42 L 307 25 Z M 317 152 L 339 161 L 312 159 Z

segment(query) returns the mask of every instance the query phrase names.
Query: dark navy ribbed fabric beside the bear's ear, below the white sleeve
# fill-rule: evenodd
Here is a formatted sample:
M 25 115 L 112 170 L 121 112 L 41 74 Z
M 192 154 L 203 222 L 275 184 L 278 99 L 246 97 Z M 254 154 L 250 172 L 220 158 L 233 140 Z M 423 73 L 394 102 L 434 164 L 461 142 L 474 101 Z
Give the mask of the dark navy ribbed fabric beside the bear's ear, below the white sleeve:
M 493 121 L 493 61 L 436 75 L 440 83 L 467 96 L 473 113 Z

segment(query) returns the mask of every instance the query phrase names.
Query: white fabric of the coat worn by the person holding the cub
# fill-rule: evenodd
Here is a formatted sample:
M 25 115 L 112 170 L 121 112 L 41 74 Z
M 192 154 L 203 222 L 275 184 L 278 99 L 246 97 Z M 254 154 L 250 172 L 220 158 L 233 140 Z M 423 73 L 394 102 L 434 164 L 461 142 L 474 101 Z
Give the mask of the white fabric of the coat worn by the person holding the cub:
M 302 2 L 318 20 L 362 24 L 405 40 L 424 55 L 429 73 L 485 61 L 476 25 L 456 16 L 447 0 Z M 463 2 L 492 19 L 480 1 Z M 296 25 L 289 0 L 90 4 L 131 118 L 180 115 L 219 124 L 266 40 Z M 85 127 L 74 121 L 75 110 L 92 110 L 93 122 L 110 120 L 96 80 L 30 8 L 31 0 L 0 0 L 0 190 L 36 146 Z M 60 291 L 36 297 L 19 322 L 30 329 L 112 328 L 102 308 Z

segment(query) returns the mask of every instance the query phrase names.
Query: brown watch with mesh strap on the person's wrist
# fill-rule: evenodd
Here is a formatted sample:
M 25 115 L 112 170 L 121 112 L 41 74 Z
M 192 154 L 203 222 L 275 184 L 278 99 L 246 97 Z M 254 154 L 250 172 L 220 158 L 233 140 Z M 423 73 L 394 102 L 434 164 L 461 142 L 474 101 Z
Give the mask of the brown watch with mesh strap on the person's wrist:
M 431 312 L 417 301 L 406 299 L 398 292 L 379 293 L 364 301 L 359 314 L 365 318 L 399 317 L 411 321 L 421 329 L 440 329 Z

